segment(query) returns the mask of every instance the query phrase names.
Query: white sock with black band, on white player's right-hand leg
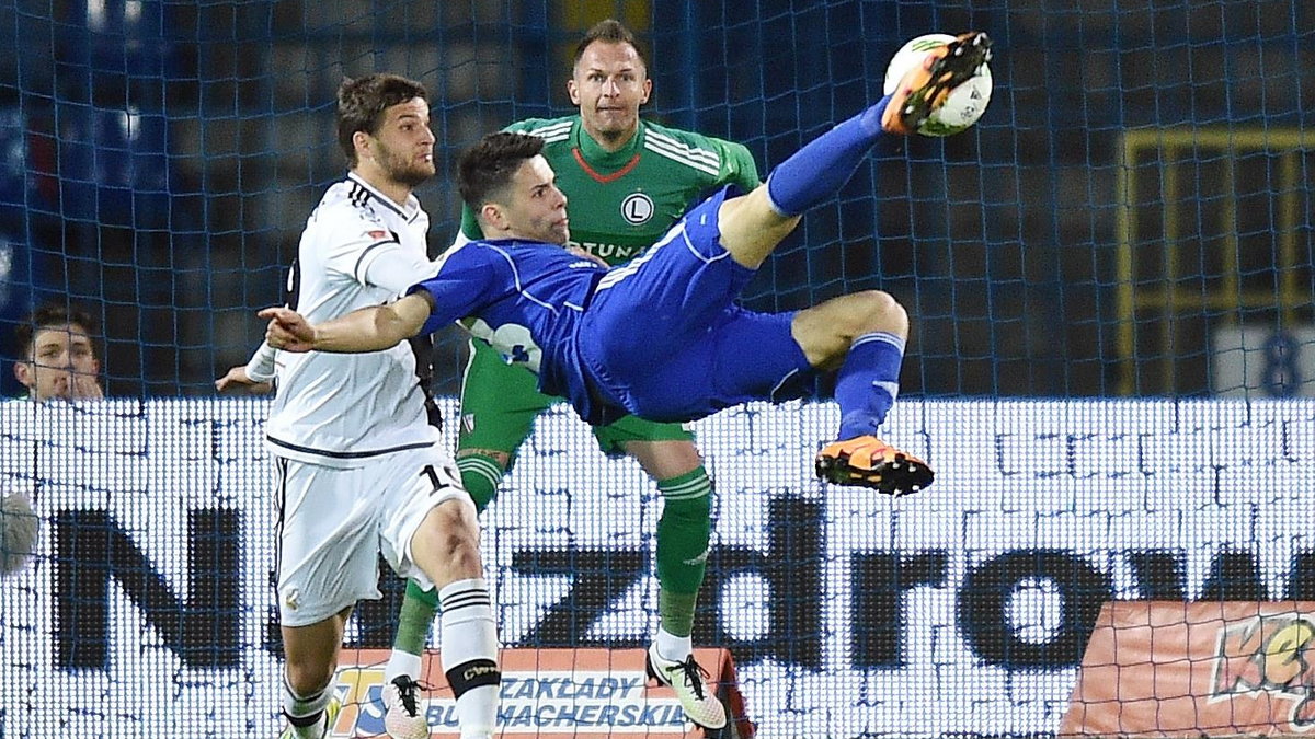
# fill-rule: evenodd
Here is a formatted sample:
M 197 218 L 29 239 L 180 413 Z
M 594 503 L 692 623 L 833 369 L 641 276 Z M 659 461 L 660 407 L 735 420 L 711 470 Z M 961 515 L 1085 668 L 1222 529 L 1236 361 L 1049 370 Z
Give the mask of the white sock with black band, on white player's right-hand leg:
M 497 726 L 497 622 L 483 579 L 458 580 L 438 592 L 443 671 L 456 694 L 462 736 L 490 736 Z M 492 682 L 490 682 L 492 681 Z

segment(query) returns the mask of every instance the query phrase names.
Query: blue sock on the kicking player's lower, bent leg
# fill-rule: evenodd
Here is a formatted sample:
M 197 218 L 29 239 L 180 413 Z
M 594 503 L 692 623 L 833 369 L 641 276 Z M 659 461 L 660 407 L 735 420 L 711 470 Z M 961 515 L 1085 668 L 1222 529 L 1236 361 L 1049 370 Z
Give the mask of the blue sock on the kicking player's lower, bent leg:
M 835 381 L 840 404 L 839 439 L 876 434 L 899 394 L 905 339 L 873 331 L 853 339 Z

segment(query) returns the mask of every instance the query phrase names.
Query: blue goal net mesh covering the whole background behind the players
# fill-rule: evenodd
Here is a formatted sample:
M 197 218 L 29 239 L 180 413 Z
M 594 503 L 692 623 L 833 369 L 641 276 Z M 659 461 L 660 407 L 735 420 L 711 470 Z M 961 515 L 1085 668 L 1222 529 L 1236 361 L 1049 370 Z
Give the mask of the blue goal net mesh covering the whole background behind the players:
M 1181 622 L 1182 604 L 1287 598 L 1307 613 L 1315 593 L 1315 408 L 1301 397 L 1315 394 L 1312 13 L 1299 0 L 0 4 L 0 342 L 21 362 L 32 308 L 85 310 L 110 396 L 0 405 L 0 492 L 29 494 L 39 521 L 34 560 L 0 580 L 0 736 L 279 730 L 267 404 L 189 396 L 213 394 L 258 345 L 254 312 L 280 301 L 305 217 L 343 172 L 343 76 L 422 80 L 450 172 L 489 130 L 571 113 L 571 51 L 608 16 L 647 42 L 646 114 L 742 142 L 764 174 L 876 100 L 907 38 L 995 39 L 982 121 L 864 164 L 744 293 L 763 310 L 898 297 L 913 331 L 884 431 L 938 483 L 894 502 L 819 484 L 811 459 L 838 421 L 825 381 L 803 404 L 701 422 L 718 497 L 694 642 L 731 651 L 764 736 L 1103 726 L 1093 717 L 1116 701 L 1077 686 L 1106 602 L 1176 602 Z M 455 188 L 439 176 L 417 195 L 438 254 Z M 452 419 L 466 339 L 438 339 Z M 9 367 L 0 381 L 24 389 Z M 543 416 L 484 518 L 505 646 L 646 646 L 659 505 L 568 409 Z M 380 586 L 348 630 L 343 664 L 359 672 L 335 685 L 355 710 L 334 736 L 381 731 L 401 584 Z M 1294 618 L 1295 655 L 1308 639 Z M 1230 657 L 1211 675 L 1233 675 L 1278 648 L 1233 636 L 1184 664 Z M 1084 680 L 1119 667 L 1109 659 Z M 1279 730 L 1304 726 L 1294 686 L 1308 676 L 1237 675 L 1216 697 L 1266 696 Z M 523 731 L 629 715 L 598 693 L 512 690 L 505 721 Z M 665 697 L 617 696 L 656 701 L 626 728 L 679 735 Z M 1273 730 L 1181 698 L 1147 702 L 1177 730 Z M 1065 723 L 1074 706 L 1086 723 Z M 451 728 L 450 696 L 429 710 Z

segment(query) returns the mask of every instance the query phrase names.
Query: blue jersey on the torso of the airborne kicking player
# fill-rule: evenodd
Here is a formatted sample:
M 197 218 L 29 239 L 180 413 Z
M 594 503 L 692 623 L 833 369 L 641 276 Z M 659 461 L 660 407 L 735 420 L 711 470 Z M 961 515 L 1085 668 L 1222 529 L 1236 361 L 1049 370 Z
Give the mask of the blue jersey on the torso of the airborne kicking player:
M 579 362 L 579 322 L 606 271 L 555 243 L 472 241 L 444 255 L 438 274 L 410 292 L 434 298 L 423 333 L 460 321 L 508 364 L 537 372 L 542 392 L 565 397 L 589 418 L 601 409 Z

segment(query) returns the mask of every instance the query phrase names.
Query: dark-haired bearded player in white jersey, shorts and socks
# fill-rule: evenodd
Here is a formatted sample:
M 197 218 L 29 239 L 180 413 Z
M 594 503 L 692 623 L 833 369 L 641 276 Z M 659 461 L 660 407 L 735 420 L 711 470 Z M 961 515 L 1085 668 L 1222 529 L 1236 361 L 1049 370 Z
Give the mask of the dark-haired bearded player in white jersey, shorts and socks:
M 434 274 L 429 216 L 412 195 L 435 171 L 425 88 L 381 74 L 345 80 L 338 143 L 351 171 L 306 221 L 293 276 L 297 310 L 314 321 L 387 302 Z M 343 629 L 358 600 L 380 597 L 380 551 L 398 575 L 439 589 L 462 736 L 493 735 L 501 673 L 479 522 L 435 425 L 427 351 L 417 354 L 402 342 L 276 355 L 266 446 L 279 468 L 284 738 L 327 735 Z M 264 346 L 229 379 L 267 379 L 274 356 Z

